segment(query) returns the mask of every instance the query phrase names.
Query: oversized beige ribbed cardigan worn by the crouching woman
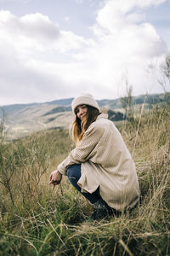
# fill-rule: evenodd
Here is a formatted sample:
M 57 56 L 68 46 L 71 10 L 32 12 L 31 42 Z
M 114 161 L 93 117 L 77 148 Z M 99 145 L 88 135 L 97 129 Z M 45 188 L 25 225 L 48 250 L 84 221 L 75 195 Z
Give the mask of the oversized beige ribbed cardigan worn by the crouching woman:
M 73 164 L 82 164 L 78 185 L 82 192 L 93 193 L 99 187 L 104 201 L 123 211 L 139 201 L 139 181 L 131 154 L 113 122 L 100 114 L 89 125 L 82 141 L 57 170 L 66 175 Z

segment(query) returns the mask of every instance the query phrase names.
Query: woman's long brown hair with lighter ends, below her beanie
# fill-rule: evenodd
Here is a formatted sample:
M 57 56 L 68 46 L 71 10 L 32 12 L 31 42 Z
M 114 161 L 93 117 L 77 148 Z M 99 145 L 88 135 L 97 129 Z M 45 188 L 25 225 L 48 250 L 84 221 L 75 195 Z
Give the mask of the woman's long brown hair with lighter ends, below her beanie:
M 99 110 L 97 108 L 88 105 L 86 106 L 88 108 L 86 119 L 82 122 L 76 115 L 76 118 L 71 125 L 70 135 L 76 145 L 82 140 L 82 136 L 89 125 L 91 125 L 99 115 Z

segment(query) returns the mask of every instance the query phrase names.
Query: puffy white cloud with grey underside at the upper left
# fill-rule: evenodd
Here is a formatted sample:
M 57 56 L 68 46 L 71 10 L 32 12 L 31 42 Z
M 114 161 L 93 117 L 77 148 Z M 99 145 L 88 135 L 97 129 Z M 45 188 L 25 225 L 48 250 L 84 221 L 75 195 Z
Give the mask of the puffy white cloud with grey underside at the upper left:
M 42 51 L 59 38 L 58 26 L 41 14 L 18 18 L 0 11 L 0 29 L 1 41 L 10 42 L 19 55 Z

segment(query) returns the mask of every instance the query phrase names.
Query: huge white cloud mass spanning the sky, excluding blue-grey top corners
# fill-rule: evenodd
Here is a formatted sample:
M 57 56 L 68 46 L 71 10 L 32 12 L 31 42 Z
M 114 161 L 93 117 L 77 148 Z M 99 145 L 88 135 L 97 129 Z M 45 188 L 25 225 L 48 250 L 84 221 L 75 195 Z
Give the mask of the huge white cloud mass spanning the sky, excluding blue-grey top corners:
M 146 70 L 164 55 L 165 44 L 144 9 L 164 2 L 107 0 L 96 13 L 92 38 L 62 31 L 40 13 L 19 18 L 0 11 L 0 104 L 45 102 L 82 91 L 114 98 L 121 96 L 125 73 L 134 94 L 158 91 Z

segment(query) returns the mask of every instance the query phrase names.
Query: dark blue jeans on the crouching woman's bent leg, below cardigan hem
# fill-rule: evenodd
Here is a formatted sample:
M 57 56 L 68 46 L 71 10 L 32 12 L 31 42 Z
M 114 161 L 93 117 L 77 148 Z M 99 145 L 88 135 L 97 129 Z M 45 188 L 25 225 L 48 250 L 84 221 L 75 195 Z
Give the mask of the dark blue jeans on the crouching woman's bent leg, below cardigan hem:
M 81 165 L 70 166 L 67 170 L 67 177 L 71 184 L 92 204 L 101 199 L 101 196 L 99 195 L 99 187 L 92 194 L 81 192 L 81 187 L 79 187 L 79 185 L 77 184 L 79 178 L 81 177 Z

